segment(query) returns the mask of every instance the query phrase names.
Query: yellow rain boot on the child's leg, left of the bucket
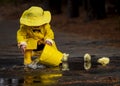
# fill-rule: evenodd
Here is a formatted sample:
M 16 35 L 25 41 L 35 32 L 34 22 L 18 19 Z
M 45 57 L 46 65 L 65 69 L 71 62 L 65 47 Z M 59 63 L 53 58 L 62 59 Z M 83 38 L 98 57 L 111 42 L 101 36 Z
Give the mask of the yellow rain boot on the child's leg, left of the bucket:
M 31 56 L 32 56 L 32 50 L 26 50 L 24 53 L 24 65 L 28 65 L 32 62 Z

